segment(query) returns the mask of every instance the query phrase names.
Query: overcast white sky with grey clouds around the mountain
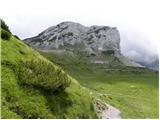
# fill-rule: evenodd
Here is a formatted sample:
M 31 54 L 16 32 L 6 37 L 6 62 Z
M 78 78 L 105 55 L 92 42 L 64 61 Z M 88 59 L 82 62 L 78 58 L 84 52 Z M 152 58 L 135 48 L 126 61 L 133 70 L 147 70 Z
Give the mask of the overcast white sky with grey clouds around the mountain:
M 160 0 L 0 0 L 0 17 L 21 39 L 63 21 L 117 27 L 121 52 L 151 62 L 158 55 Z

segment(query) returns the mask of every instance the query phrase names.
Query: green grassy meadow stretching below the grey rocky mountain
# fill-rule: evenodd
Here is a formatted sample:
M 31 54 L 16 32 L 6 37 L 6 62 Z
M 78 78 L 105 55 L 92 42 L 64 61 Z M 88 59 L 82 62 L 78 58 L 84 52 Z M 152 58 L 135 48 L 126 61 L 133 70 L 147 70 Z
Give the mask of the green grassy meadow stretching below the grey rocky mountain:
M 158 73 L 124 66 L 95 66 L 85 58 L 68 54 L 41 54 L 90 88 L 95 96 L 119 108 L 123 118 L 158 118 Z

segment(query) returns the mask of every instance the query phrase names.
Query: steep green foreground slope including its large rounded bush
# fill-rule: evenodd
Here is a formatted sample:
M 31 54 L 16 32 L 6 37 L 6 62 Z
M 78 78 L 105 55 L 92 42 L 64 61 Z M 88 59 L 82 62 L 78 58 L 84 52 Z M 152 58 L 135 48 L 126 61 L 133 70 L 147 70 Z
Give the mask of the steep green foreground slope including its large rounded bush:
M 12 35 L 1 47 L 1 118 L 97 118 L 89 91 L 60 67 Z

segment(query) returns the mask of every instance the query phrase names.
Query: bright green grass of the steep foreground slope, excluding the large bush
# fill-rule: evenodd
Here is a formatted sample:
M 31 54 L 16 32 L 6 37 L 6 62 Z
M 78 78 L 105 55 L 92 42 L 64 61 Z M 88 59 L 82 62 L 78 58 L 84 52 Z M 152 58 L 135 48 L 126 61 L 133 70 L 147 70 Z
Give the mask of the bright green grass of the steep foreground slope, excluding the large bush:
M 21 60 L 49 61 L 13 36 L 1 40 L 2 63 L 17 64 Z M 58 69 L 56 65 L 51 63 Z M 23 66 L 18 66 L 23 67 Z M 1 66 L 2 118 L 96 118 L 89 91 L 71 78 L 71 85 L 62 92 L 48 93 L 33 86 L 19 84 L 10 64 Z M 15 68 L 14 68 L 15 69 Z M 47 77 L 47 76 L 46 76 Z

